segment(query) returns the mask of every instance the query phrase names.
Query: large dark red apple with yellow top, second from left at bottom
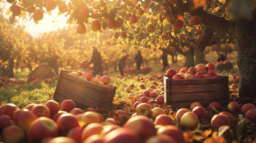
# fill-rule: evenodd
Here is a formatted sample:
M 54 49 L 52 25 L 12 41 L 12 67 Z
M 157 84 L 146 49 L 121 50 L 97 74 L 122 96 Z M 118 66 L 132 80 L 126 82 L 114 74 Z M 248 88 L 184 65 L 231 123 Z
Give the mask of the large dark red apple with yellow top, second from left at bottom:
M 41 142 L 43 138 L 58 136 L 57 124 L 48 117 L 34 120 L 27 131 L 27 141 Z

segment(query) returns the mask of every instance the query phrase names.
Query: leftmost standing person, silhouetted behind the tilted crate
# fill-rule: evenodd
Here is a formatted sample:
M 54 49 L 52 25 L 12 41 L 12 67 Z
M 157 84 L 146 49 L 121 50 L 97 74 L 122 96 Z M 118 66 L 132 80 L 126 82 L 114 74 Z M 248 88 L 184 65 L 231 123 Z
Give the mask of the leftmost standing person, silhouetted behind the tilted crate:
M 100 52 L 96 49 L 95 46 L 91 46 L 92 49 L 92 57 L 90 63 L 93 63 L 93 76 L 100 75 L 103 76 L 103 68 L 101 62 Z

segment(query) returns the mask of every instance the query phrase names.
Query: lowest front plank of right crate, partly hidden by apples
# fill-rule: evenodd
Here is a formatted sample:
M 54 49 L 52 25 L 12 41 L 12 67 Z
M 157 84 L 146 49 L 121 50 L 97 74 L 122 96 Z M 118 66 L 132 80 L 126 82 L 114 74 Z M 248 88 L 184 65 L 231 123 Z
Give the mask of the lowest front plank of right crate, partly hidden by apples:
M 201 101 L 200 103 L 203 107 L 208 107 L 211 102 L 213 102 L 213 101 Z M 218 102 L 218 104 L 220 104 L 221 106 L 225 105 L 224 100 L 218 100 L 218 101 L 215 101 L 215 102 Z M 192 102 L 172 102 L 170 105 L 172 105 L 174 107 L 190 108 L 191 104 L 192 104 Z

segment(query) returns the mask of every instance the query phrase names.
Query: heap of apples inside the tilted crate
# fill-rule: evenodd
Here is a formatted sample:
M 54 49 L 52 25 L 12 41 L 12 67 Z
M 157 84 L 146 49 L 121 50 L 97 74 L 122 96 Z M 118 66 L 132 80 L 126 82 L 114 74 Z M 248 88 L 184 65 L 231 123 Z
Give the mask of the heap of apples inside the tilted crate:
M 90 81 L 92 83 L 95 83 L 97 85 L 100 85 L 104 88 L 107 88 L 107 91 L 114 89 L 113 83 L 110 83 L 111 80 L 110 80 L 109 76 L 106 76 L 106 75 L 105 76 L 100 76 L 100 75 L 92 76 L 92 74 L 89 73 L 88 71 L 84 71 L 84 73 L 82 73 L 81 76 L 77 71 L 73 71 L 69 74 L 73 75 L 73 76 L 76 76 L 76 77 L 79 77 L 79 78 L 84 79 L 84 80 L 88 80 L 88 81 Z

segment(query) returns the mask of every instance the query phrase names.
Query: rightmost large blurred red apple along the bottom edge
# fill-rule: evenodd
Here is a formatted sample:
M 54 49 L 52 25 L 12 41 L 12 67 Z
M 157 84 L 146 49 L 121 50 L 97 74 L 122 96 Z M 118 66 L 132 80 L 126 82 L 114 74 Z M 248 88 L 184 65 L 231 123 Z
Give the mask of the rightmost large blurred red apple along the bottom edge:
M 171 136 L 177 143 L 184 143 L 184 136 L 182 131 L 175 125 L 162 126 L 156 132 L 157 135 Z

